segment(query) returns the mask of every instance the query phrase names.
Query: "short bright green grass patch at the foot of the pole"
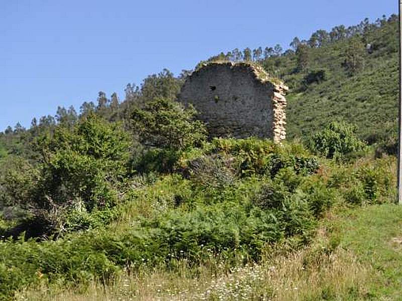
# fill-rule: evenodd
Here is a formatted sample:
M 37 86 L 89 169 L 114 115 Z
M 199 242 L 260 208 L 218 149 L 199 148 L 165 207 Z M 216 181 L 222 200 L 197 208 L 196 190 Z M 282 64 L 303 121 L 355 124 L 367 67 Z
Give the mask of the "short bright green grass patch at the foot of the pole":
M 370 206 L 347 213 L 336 235 L 342 248 L 372 267 L 368 294 L 373 299 L 402 299 L 402 206 Z

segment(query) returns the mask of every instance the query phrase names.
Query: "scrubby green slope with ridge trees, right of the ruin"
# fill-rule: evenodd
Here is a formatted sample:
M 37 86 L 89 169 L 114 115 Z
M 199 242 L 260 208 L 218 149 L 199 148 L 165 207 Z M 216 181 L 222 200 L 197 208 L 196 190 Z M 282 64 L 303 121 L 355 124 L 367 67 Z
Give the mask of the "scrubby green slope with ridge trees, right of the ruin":
M 368 142 L 393 140 L 398 95 L 397 16 L 374 23 L 318 30 L 291 49 L 235 49 L 210 60 L 253 60 L 290 87 L 286 97 L 289 138 L 303 137 L 341 119 L 358 126 Z

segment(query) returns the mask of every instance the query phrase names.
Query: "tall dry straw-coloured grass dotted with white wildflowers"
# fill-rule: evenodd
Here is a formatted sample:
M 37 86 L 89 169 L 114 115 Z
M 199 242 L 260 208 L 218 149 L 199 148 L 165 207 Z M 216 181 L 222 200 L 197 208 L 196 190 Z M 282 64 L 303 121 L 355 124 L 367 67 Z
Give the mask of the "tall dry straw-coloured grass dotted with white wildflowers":
M 259 264 L 226 268 L 212 258 L 196 269 L 187 261 L 175 271 L 155 268 L 122 274 L 114 284 L 91 282 L 85 293 L 77 289 L 21 291 L 17 300 L 356 300 L 366 296 L 371 268 L 350 251 L 331 249 L 325 228 L 315 242 L 296 252 L 278 248 Z

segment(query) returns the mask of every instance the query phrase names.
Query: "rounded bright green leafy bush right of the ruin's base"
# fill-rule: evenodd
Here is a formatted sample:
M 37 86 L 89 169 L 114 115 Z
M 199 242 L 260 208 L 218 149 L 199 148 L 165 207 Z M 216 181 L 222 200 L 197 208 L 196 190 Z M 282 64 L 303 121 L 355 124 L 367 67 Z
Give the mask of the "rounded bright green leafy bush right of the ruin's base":
M 307 141 L 310 150 L 326 158 L 343 159 L 347 154 L 364 149 L 365 143 L 355 134 L 356 127 L 346 122 L 332 121 Z

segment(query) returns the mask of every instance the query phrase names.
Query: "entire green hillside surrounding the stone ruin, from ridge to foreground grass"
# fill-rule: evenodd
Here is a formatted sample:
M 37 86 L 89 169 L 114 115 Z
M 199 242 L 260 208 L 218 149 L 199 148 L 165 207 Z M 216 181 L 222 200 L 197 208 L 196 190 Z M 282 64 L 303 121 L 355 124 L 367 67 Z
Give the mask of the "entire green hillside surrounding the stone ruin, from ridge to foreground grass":
M 189 71 L 7 128 L 0 299 L 399 299 L 396 30 L 210 58 L 290 86 L 281 144 L 210 139 L 176 101 Z

